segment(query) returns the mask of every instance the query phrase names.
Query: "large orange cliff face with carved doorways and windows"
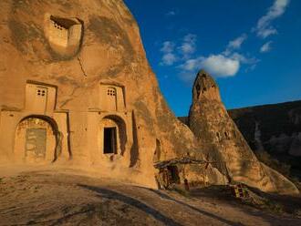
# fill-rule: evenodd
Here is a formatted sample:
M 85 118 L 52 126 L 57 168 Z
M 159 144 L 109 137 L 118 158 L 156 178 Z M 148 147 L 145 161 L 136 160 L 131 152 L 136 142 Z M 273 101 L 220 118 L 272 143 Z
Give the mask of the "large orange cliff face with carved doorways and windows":
M 162 98 L 123 1 L 12 0 L 0 11 L 2 163 L 156 187 L 154 161 L 203 159 Z M 206 180 L 220 180 L 209 169 Z M 203 178 L 193 167 L 185 173 Z

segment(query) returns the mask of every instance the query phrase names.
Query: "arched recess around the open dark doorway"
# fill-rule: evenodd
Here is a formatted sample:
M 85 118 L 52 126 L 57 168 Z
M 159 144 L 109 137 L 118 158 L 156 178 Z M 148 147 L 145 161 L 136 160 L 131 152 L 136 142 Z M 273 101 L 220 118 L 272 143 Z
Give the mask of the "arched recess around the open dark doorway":
M 126 149 L 126 123 L 122 118 L 110 115 L 100 121 L 100 149 L 103 154 L 123 155 Z

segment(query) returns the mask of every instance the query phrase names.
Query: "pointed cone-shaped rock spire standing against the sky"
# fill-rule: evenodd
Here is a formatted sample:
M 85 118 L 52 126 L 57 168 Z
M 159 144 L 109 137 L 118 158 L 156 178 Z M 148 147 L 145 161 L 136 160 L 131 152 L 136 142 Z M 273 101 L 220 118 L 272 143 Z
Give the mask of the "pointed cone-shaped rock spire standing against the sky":
M 217 84 L 200 71 L 192 89 L 189 127 L 208 159 L 225 162 L 232 180 L 265 191 L 296 192 L 296 186 L 260 163 L 221 101 Z

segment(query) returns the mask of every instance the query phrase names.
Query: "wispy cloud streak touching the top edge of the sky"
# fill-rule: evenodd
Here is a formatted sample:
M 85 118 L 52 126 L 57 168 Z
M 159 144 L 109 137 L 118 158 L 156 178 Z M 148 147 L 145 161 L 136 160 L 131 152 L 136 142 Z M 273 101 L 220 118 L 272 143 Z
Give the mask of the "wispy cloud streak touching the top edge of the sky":
M 273 20 L 275 20 L 275 18 L 285 13 L 285 9 L 289 4 L 289 1 L 290 0 L 275 0 L 274 5 L 272 5 L 268 9 L 267 13 L 262 16 L 257 22 L 257 26 L 254 28 L 257 36 L 265 38 L 277 33 L 277 30 L 274 26 L 271 26 L 271 23 Z

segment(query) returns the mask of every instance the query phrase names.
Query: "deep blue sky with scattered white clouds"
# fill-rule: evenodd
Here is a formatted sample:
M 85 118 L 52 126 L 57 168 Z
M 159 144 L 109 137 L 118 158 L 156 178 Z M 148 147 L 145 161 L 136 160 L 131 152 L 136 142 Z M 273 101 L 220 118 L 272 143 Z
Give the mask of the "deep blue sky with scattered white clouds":
M 301 99 L 300 0 L 125 0 L 177 116 L 201 68 L 226 108 Z

